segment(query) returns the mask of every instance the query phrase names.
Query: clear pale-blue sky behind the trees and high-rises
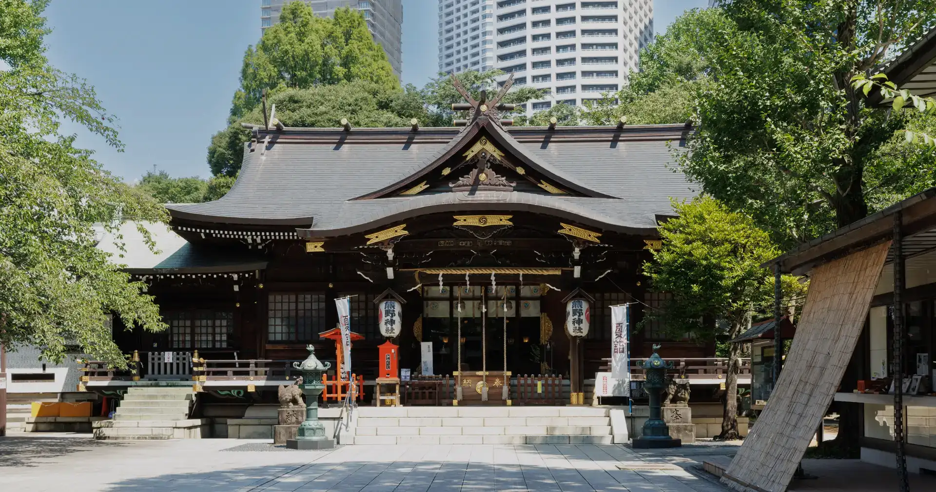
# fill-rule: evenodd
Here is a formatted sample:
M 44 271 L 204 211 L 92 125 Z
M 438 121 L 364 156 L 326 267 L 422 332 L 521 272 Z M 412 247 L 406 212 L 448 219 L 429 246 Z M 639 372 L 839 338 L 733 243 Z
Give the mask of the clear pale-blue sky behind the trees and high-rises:
M 706 0 L 654 0 L 653 26 L 665 31 Z M 78 145 L 126 181 L 148 170 L 208 177 L 205 153 L 225 126 L 243 51 L 260 36 L 259 0 L 157 2 L 52 0 L 46 10 L 52 65 L 95 86 L 119 119 L 126 149 L 66 123 Z M 422 87 L 436 70 L 436 0 L 403 0 L 403 83 Z

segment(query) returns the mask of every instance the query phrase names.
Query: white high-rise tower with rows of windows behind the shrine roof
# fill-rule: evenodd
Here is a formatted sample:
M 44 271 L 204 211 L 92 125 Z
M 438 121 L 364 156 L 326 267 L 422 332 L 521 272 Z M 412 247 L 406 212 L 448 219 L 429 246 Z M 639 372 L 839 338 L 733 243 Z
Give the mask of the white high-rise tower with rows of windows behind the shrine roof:
M 528 114 L 618 91 L 652 40 L 652 0 L 439 0 L 439 71 L 499 68 L 548 89 Z

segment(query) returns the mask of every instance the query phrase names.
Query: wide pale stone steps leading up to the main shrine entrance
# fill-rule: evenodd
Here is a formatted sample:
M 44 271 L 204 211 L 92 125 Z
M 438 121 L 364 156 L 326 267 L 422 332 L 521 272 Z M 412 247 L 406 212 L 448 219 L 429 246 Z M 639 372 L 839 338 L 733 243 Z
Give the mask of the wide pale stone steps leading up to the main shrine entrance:
M 355 444 L 610 444 L 595 407 L 360 407 Z

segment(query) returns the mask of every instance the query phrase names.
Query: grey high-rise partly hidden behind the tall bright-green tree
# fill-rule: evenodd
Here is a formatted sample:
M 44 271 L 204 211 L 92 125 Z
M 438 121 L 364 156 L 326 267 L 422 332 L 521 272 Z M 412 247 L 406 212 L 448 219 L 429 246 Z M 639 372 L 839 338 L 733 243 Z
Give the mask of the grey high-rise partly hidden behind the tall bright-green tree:
M 280 21 L 283 6 L 296 0 L 260 0 L 260 29 L 265 30 Z M 373 40 L 387 53 L 393 73 L 402 75 L 402 0 L 302 0 L 312 7 L 315 15 L 331 17 L 335 8 L 351 7 L 360 10 L 371 31 Z

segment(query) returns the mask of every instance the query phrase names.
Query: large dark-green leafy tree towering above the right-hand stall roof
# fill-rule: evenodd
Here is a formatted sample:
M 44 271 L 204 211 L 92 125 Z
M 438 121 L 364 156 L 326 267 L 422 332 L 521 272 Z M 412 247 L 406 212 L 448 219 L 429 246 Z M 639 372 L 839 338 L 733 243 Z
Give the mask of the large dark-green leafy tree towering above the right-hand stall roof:
M 919 117 L 868 108 L 851 81 L 931 28 L 936 2 L 736 0 L 715 10 L 724 22 L 697 32 L 686 51 L 713 83 L 680 163 L 706 193 L 791 246 L 932 173 L 927 149 L 904 151 L 916 152 L 914 166 L 875 159 Z

